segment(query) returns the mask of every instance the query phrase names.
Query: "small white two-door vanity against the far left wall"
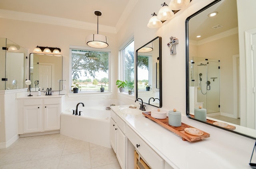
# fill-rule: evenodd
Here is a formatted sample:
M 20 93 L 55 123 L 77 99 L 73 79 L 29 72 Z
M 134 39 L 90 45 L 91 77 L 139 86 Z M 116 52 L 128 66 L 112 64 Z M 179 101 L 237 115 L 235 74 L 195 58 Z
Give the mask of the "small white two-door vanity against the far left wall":
M 17 98 L 18 134 L 29 136 L 60 132 L 63 99 L 60 95 Z

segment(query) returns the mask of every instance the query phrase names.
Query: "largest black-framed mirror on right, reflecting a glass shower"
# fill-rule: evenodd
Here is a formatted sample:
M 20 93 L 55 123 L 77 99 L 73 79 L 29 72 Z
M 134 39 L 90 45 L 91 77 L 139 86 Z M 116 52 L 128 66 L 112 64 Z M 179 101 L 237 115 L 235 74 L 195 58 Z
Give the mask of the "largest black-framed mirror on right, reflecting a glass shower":
M 248 100 L 241 98 L 248 89 L 248 82 L 242 79 L 250 73 L 246 72 L 244 32 L 256 28 L 256 24 L 244 22 L 251 22 L 246 16 L 255 16 L 247 6 L 256 3 L 243 2 L 215 0 L 186 19 L 186 114 L 256 139 L 255 110 L 248 111 Z M 216 16 L 210 16 L 212 12 Z M 251 92 L 247 97 L 255 96 Z

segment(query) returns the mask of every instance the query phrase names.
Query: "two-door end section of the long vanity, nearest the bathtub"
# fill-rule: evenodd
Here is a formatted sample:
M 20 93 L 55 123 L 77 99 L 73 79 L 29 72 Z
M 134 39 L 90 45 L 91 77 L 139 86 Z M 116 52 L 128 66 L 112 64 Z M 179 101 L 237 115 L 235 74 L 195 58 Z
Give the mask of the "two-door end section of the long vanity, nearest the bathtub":
M 110 144 L 116 153 L 116 157 L 122 169 L 125 169 L 126 136 L 125 122 L 111 110 L 110 119 Z

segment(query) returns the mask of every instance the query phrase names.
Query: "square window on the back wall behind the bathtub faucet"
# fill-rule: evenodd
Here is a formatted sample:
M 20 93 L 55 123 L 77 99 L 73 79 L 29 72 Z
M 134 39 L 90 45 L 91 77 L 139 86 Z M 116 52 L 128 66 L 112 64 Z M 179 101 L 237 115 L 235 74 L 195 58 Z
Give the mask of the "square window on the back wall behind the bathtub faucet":
M 78 91 L 100 92 L 108 88 L 108 51 L 70 49 L 72 64 L 72 85 L 80 86 Z

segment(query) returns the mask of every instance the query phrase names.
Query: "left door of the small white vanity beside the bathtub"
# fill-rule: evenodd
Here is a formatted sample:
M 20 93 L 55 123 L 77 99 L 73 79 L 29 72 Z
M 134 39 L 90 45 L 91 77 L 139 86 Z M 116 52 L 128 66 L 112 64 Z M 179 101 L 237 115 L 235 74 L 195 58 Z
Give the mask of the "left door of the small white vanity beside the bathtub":
M 42 131 L 42 110 L 40 105 L 24 106 L 23 120 L 24 133 Z

